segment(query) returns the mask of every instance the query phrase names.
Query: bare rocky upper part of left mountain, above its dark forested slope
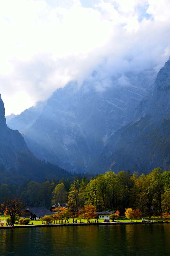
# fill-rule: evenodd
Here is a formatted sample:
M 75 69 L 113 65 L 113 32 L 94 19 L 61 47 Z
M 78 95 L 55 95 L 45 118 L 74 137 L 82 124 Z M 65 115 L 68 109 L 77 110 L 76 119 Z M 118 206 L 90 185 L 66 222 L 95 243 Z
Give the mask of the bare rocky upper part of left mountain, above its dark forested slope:
M 0 165 L 1 168 L 18 170 L 20 158 L 32 155 L 24 138 L 17 130 L 11 130 L 6 125 L 5 108 L 0 95 Z

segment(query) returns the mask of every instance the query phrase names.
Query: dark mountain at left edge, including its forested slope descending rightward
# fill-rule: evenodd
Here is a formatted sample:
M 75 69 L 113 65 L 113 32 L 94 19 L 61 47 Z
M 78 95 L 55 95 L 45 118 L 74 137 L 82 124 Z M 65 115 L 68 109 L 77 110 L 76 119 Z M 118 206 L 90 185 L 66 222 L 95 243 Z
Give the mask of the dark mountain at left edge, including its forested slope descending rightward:
M 19 184 L 29 179 L 43 182 L 45 178 L 52 180 L 71 177 L 71 173 L 59 166 L 37 159 L 19 131 L 7 127 L 1 94 L 0 144 L 0 182 Z

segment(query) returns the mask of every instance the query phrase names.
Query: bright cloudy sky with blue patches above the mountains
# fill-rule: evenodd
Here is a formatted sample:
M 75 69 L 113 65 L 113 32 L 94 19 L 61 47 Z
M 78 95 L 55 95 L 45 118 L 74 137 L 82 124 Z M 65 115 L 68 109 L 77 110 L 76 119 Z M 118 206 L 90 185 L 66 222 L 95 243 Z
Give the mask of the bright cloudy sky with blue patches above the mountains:
M 170 55 L 169 0 L 0 0 L 5 115 L 94 70 L 158 72 Z

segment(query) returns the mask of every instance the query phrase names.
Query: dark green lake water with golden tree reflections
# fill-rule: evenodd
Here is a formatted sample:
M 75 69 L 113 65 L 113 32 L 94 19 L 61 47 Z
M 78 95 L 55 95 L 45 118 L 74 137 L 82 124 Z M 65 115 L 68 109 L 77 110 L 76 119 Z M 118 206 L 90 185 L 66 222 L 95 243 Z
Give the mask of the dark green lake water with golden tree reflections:
M 60 226 L 0 230 L 0 255 L 170 255 L 170 225 Z

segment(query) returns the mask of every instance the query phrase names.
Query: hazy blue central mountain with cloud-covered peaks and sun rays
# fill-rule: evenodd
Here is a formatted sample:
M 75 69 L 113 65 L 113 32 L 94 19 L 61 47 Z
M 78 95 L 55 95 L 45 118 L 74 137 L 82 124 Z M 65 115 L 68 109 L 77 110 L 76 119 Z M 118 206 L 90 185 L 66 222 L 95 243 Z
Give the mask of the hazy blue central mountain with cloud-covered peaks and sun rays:
M 86 172 L 107 140 L 133 121 L 141 100 L 152 91 L 154 69 L 101 79 L 95 71 L 81 86 L 57 89 L 35 116 L 36 107 L 11 119 L 33 154 L 68 171 Z

